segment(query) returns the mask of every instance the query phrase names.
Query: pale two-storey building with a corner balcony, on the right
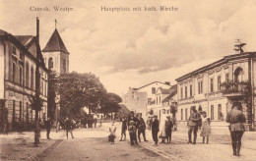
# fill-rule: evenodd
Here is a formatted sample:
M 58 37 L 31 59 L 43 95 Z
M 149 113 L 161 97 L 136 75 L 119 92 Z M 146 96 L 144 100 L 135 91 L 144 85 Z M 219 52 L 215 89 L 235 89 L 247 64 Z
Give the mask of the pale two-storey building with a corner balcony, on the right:
M 207 112 L 212 125 L 225 125 L 226 112 L 240 101 L 248 126 L 255 127 L 256 52 L 224 56 L 223 59 L 186 74 L 177 81 L 177 119 L 186 122 L 190 107 Z

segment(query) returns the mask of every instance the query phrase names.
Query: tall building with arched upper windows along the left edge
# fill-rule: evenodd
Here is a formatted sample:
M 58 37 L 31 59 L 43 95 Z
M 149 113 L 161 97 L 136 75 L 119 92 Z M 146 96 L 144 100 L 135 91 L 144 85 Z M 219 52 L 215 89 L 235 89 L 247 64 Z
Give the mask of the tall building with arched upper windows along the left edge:
M 36 25 L 36 36 L 13 35 L 0 29 L 1 122 L 8 120 L 14 130 L 17 125 L 32 125 L 35 111 L 30 98 L 36 91 L 43 100 L 39 119 L 47 117 L 48 70 L 38 43 L 38 20 Z

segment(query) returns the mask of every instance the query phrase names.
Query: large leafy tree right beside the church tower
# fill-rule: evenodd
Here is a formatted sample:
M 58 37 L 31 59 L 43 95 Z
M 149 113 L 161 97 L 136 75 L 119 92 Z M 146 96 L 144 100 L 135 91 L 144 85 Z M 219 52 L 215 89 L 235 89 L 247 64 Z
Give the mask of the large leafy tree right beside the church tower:
M 60 107 L 62 116 L 79 117 L 81 108 L 96 111 L 106 94 L 102 83 L 93 74 L 72 72 L 59 77 Z

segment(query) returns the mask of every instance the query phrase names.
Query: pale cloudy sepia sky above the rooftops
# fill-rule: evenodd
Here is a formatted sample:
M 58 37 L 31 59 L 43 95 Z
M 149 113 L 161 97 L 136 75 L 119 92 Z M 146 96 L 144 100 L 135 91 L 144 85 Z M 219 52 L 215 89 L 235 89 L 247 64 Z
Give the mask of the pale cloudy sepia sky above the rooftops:
M 74 11 L 54 11 L 53 7 Z M 174 6 L 176 12 L 102 12 L 101 7 Z M 47 7 L 49 11 L 31 11 Z M 159 9 L 160 10 L 160 9 Z M 254 0 L 0 0 L 0 29 L 35 35 L 43 48 L 57 29 L 70 52 L 70 72 L 93 73 L 107 91 L 170 81 L 234 54 L 234 40 L 256 51 Z

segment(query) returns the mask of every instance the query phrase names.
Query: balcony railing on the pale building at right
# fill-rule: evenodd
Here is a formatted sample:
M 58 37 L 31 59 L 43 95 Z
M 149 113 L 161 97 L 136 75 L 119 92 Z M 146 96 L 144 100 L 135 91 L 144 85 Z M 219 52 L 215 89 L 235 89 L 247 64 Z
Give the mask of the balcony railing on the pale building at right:
M 221 92 L 223 94 L 248 94 L 250 91 L 250 82 L 249 81 L 233 81 L 228 80 L 224 81 L 221 84 Z

